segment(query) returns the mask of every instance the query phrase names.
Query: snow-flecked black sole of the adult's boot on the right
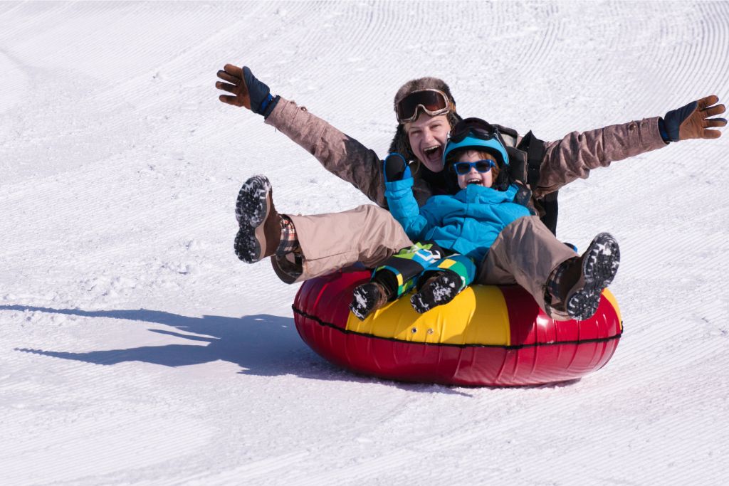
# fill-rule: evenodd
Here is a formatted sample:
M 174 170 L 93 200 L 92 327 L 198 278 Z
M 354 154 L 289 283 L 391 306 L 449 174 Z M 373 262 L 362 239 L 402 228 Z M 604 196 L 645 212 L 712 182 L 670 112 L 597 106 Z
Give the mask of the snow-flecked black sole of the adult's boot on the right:
M 582 260 L 582 278 L 567 298 L 566 310 L 575 321 L 585 321 L 597 312 L 602 291 L 612 283 L 620 265 L 620 247 L 608 233 L 592 240 Z

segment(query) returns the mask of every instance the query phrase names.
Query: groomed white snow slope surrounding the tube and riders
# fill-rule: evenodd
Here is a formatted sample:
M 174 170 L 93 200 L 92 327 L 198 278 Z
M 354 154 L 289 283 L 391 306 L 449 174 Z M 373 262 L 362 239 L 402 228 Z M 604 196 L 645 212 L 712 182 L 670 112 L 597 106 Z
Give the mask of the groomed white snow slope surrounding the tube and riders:
M 728 133 L 561 191 L 561 239 L 620 242 L 607 367 L 394 383 L 319 358 L 297 286 L 235 258 L 254 173 L 284 213 L 367 200 L 219 103 L 225 63 L 378 154 L 426 75 L 553 140 L 729 101 L 729 2 L 0 3 L 0 484 L 725 484 Z

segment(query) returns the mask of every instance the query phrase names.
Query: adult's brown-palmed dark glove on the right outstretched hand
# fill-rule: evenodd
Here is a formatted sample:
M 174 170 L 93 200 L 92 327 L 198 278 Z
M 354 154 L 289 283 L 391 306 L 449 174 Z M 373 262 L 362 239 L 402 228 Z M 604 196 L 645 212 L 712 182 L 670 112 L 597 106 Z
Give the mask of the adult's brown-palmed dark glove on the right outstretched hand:
M 712 127 L 725 127 L 727 124 L 725 118 L 709 118 L 724 113 L 724 105 L 712 106 L 718 101 L 716 95 L 711 95 L 668 111 L 665 117 L 658 120 L 660 136 L 666 142 L 688 138 L 719 138 L 722 135 L 719 130 L 709 130 Z

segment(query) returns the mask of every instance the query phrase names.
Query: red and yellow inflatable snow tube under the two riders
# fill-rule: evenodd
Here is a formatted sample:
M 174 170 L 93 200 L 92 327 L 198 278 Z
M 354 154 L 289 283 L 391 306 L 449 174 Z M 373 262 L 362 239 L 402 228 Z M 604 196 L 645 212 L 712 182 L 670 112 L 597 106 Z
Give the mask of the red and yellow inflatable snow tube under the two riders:
M 352 270 L 303 283 L 295 301 L 300 336 L 316 353 L 363 375 L 447 385 L 540 385 L 603 367 L 623 332 L 606 289 L 588 321 L 553 321 L 520 286 L 470 286 L 424 314 L 402 298 L 359 321 Z

